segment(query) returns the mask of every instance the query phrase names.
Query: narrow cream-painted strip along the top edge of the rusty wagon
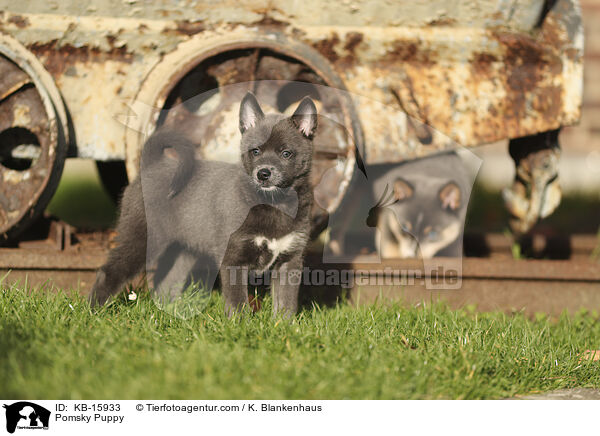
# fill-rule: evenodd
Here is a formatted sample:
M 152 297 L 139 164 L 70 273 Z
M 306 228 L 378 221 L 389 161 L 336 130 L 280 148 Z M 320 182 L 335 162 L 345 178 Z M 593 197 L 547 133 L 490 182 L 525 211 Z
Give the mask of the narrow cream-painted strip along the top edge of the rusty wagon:
M 4 4 L 2 4 L 4 3 Z M 15 24 L 27 25 L 26 14 L 63 14 L 80 17 L 127 17 L 138 20 L 171 20 L 177 31 L 197 33 L 202 25 L 230 22 L 244 25 L 293 22 L 297 26 L 377 25 L 382 27 L 506 26 L 517 31 L 531 29 L 539 19 L 543 0 L 3 0 L 6 10 L 22 15 Z M 4 9 L 4 8 L 3 8 Z M 318 13 L 315 13 L 318 11 Z

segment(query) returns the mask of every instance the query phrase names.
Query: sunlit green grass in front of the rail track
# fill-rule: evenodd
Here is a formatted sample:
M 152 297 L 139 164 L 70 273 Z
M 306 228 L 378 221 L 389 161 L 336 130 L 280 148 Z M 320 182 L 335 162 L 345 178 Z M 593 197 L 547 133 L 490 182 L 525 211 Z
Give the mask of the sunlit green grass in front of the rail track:
M 275 320 L 270 302 L 227 319 L 220 295 L 193 319 L 147 294 L 97 313 L 79 296 L 0 284 L 3 398 L 503 398 L 600 387 L 597 316 L 398 305 L 304 309 Z

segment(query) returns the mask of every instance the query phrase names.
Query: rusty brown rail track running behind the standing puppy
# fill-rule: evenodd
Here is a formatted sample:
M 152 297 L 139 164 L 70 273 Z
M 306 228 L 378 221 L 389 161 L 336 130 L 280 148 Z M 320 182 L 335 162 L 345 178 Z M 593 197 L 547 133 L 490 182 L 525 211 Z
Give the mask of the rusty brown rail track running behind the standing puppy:
M 46 237 L 34 234 L 18 245 L 0 248 L 0 277 L 7 274 L 5 283 L 26 280 L 32 286 L 87 293 L 96 269 L 106 259 L 113 235 L 77 232 L 55 221 L 46 222 L 40 233 Z M 364 255 L 351 262 L 324 265 L 318 255 L 313 255 L 307 264 L 310 271 L 359 271 L 366 276 L 351 283 L 350 299 L 356 304 L 376 300 L 428 304 L 444 300 L 456 308 L 475 305 L 482 311 L 524 311 L 530 315 L 600 311 L 600 260 L 592 258 L 598 244 L 595 236 L 535 235 L 529 245 L 527 241 L 525 244 L 530 255 L 541 258 L 513 259 L 511 241 L 503 235 L 467 235 L 467 253 L 485 257 L 462 259 L 460 273 L 454 277 L 457 289 L 432 289 L 435 271 L 417 259 L 379 261 L 373 255 Z M 435 265 L 444 270 L 456 267 L 456 262 L 440 258 Z M 382 271 L 389 273 L 387 282 L 374 280 Z M 398 284 L 397 279 L 406 272 L 411 274 L 409 281 Z M 391 283 L 392 279 L 396 281 Z M 328 288 L 326 292 L 336 290 Z

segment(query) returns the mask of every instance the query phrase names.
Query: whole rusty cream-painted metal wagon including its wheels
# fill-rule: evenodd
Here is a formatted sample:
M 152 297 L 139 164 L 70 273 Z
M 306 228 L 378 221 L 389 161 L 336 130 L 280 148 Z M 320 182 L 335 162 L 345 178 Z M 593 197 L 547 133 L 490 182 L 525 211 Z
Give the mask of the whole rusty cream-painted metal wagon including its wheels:
M 317 141 L 316 167 L 335 172 L 327 212 L 357 152 L 402 162 L 510 139 L 505 199 L 525 232 L 560 200 L 558 130 L 580 117 L 582 52 L 576 0 L 0 0 L 0 239 L 45 209 L 67 157 L 95 159 L 117 190 L 148 132 L 192 122 L 225 142 L 228 85 L 264 80 L 276 96 L 290 81 L 347 91 L 321 101 L 347 132 Z M 199 94 L 213 106 L 186 104 Z

